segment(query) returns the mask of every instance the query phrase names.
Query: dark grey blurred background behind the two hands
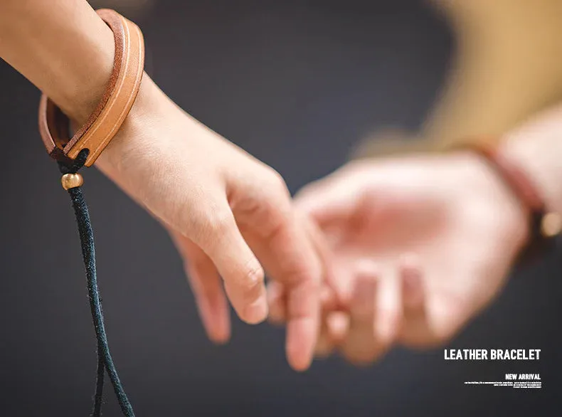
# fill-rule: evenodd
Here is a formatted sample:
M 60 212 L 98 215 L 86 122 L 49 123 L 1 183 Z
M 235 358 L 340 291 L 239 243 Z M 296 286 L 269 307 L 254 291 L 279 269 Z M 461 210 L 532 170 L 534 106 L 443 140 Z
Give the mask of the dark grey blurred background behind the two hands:
M 445 22 L 417 0 L 147 7 L 121 11 L 144 31 L 150 75 L 293 192 L 343 164 L 373 130 L 415 130 L 454 47 Z M 73 212 L 37 132 L 38 91 L 3 62 L 0 86 L 0 415 L 88 416 L 95 337 Z M 95 169 L 85 179 L 110 346 L 138 416 L 562 415 L 555 257 L 514 275 L 450 346 L 542 349 L 539 362 L 396 349 L 369 368 L 335 357 L 297 374 L 282 329 L 236 319 L 228 345 L 208 342 L 164 230 Z M 464 384 L 524 371 L 540 372 L 543 389 Z M 107 398 L 104 415 L 119 415 Z

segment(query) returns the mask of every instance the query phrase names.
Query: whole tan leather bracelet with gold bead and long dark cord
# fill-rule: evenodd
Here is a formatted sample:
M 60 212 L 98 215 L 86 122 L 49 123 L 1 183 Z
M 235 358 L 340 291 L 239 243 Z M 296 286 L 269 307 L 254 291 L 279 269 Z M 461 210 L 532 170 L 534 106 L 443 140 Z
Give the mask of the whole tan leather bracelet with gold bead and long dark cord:
M 139 91 L 144 73 L 144 40 L 137 25 L 116 11 L 100 9 L 97 14 L 113 32 L 115 62 L 105 93 L 92 115 L 70 137 L 70 120 L 46 95 L 39 105 L 39 132 L 51 157 L 57 160 L 63 188 L 73 203 L 88 283 L 90 310 L 97 339 L 97 376 L 92 415 L 101 416 L 104 376 L 110 378 L 124 416 L 134 412 L 123 389 L 107 344 L 100 292 L 97 287 L 95 246 L 88 206 L 82 188 L 83 177 L 78 170 L 90 167 L 129 114 Z

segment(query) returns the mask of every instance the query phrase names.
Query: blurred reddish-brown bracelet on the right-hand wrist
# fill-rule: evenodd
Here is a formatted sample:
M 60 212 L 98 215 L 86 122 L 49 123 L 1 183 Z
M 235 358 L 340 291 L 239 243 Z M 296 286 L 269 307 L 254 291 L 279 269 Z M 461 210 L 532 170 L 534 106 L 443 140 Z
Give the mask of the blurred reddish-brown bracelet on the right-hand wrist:
M 562 231 L 562 218 L 548 206 L 533 181 L 516 162 L 494 147 L 482 143 L 469 143 L 455 146 L 455 149 L 468 149 L 482 157 L 502 178 L 530 213 L 531 236 L 526 247 L 519 254 L 520 261 L 529 261 L 553 247 L 556 237 Z

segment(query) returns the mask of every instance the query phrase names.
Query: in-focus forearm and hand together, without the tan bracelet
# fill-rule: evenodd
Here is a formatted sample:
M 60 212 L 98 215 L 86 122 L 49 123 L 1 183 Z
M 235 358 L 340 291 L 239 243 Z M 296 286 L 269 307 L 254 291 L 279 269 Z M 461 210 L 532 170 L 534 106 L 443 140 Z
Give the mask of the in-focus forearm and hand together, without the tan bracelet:
M 109 80 L 110 29 L 85 0 L 0 2 L 0 56 L 80 125 Z M 146 75 L 96 167 L 157 218 L 184 258 L 209 337 L 226 342 L 226 297 L 267 317 L 264 270 L 287 287 L 287 358 L 304 370 L 319 327 L 322 262 L 280 174 L 208 129 Z

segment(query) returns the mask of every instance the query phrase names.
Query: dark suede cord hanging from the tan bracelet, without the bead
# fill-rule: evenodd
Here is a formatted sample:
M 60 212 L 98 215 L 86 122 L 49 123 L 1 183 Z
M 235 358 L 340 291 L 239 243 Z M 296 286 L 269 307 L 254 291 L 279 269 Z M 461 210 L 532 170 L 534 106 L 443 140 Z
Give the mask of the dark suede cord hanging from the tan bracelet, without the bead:
M 87 157 L 88 149 L 83 149 L 71 165 L 59 162 L 58 167 L 60 172 L 62 174 L 76 174 L 76 172 L 85 164 Z M 68 189 L 68 194 L 70 194 L 74 213 L 76 215 L 76 222 L 78 223 L 78 233 L 80 234 L 80 244 L 82 246 L 86 279 L 88 281 L 88 298 L 90 299 L 90 310 L 92 312 L 92 321 L 94 323 L 95 336 L 97 339 L 97 375 L 92 416 L 101 416 L 105 369 L 107 374 L 110 376 L 110 381 L 115 391 L 115 395 L 117 396 L 117 401 L 119 401 L 119 405 L 121 406 L 123 415 L 127 417 L 134 417 L 133 408 L 123 389 L 119 375 L 117 374 L 117 369 L 115 368 L 115 364 L 113 363 L 113 359 L 110 354 L 110 347 L 107 344 L 107 334 L 105 333 L 100 290 L 97 287 L 94 233 L 92 231 L 92 223 L 90 222 L 90 212 L 88 211 L 88 206 L 85 202 L 82 189 L 79 186 Z

